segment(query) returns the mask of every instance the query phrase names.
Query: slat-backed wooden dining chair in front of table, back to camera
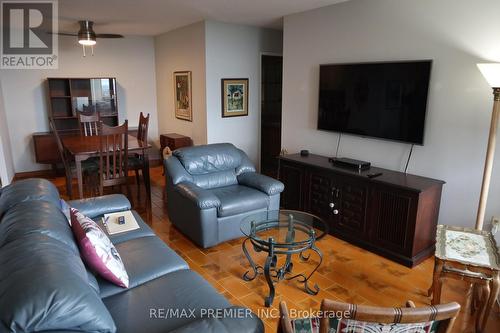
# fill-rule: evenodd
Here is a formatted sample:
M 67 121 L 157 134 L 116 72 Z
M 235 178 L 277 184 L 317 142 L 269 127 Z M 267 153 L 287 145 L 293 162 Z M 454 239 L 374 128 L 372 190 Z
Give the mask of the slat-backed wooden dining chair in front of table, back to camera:
M 104 187 L 128 184 L 128 121 L 110 127 L 99 122 L 99 193 Z

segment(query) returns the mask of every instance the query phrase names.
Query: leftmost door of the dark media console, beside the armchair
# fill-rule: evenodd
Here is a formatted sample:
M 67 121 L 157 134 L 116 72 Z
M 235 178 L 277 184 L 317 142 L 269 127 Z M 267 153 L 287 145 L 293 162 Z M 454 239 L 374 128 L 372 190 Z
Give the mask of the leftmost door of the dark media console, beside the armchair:
M 302 210 L 304 170 L 299 166 L 281 162 L 279 178 L 285 184 L 285 190 L 280 198 L 281 207 Z

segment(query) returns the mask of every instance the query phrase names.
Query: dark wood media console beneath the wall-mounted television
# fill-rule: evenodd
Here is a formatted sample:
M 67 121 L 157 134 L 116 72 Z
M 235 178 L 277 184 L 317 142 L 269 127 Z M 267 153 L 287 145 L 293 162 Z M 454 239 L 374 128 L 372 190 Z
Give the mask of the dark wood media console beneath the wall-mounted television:
M 280 156 L 281 205 L 325 219 L 330 233 L 413 267 L 434 253 L 442 180 L 371 167 L 334 167 L 328 157 Z M 382 173 L 370 178 L 369 174 Z

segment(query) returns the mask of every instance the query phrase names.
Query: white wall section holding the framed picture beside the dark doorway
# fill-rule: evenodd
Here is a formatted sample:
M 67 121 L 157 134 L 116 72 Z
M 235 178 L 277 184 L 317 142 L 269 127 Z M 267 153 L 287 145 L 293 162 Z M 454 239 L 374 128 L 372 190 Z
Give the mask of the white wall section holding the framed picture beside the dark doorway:
M 282 52 L 282 33 L 215 21 L 205 24 L 208 143 L 231 142 L 258 165 L 260 152 L 260 58 Z M 248 116 L 222 118 L 221 79 L 248 78 Z

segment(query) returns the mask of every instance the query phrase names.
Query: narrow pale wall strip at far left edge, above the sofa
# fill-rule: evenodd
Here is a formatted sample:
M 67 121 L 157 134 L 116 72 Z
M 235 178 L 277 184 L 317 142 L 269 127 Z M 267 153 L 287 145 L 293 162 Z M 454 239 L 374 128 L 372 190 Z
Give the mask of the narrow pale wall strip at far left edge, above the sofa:
M 9 128 L 3 103 L 2 85 L 0 82 L 0 180 L 1 186 L 8 185 L 14 178 L 14 164 L 10 149 Z M 1 187 L 0 186 L 0 187 Z

